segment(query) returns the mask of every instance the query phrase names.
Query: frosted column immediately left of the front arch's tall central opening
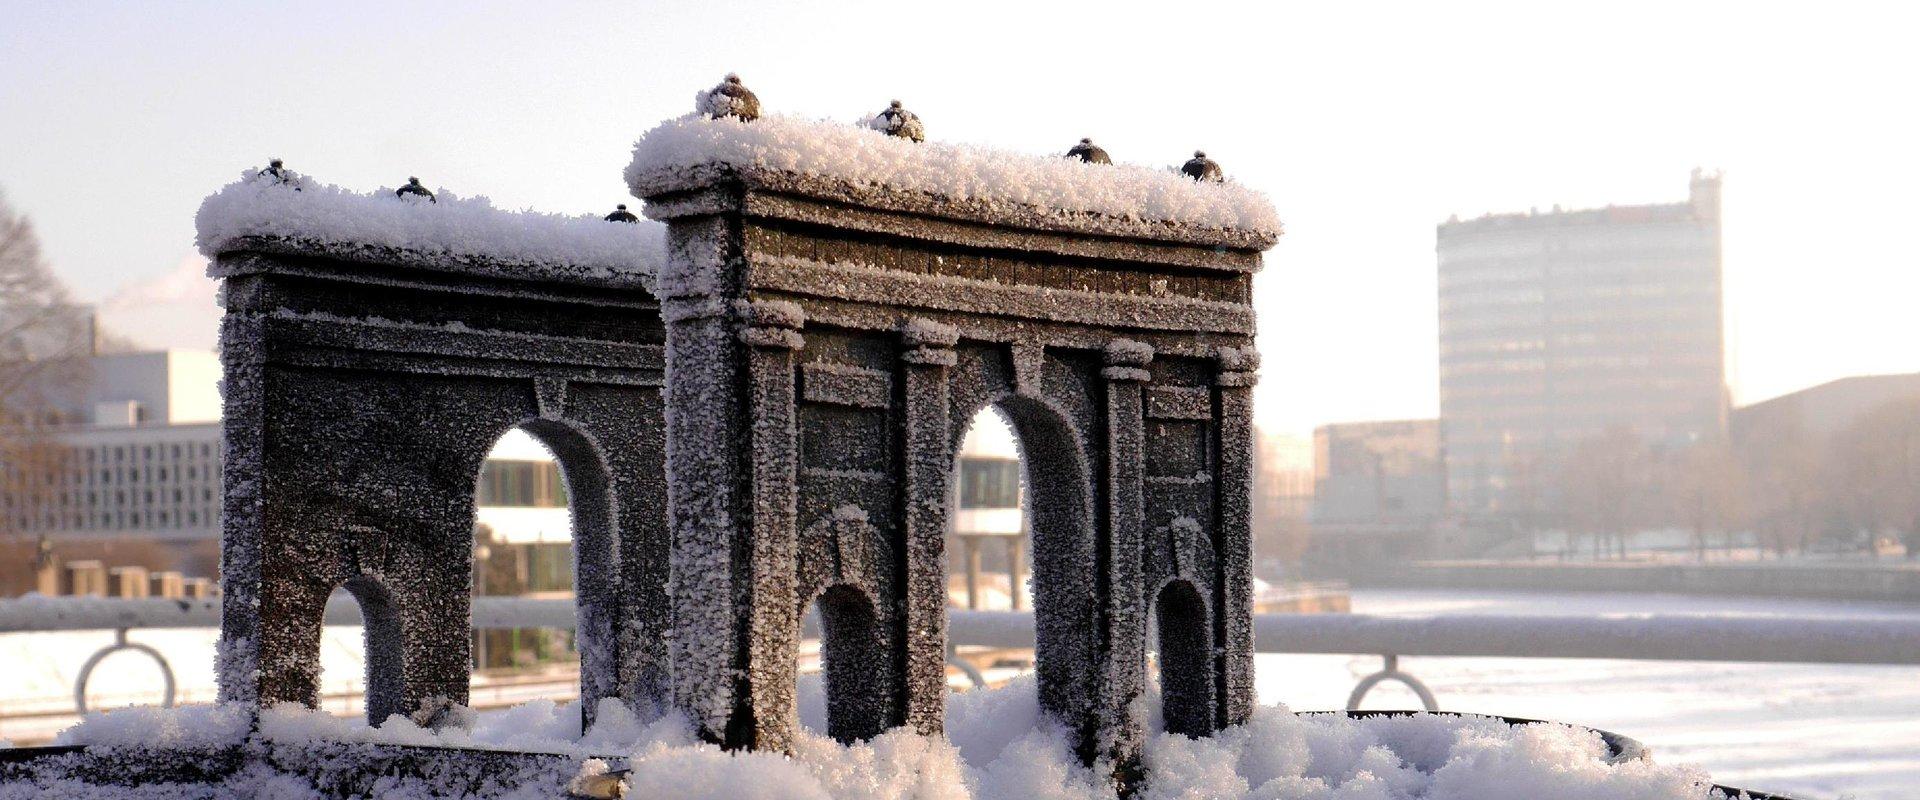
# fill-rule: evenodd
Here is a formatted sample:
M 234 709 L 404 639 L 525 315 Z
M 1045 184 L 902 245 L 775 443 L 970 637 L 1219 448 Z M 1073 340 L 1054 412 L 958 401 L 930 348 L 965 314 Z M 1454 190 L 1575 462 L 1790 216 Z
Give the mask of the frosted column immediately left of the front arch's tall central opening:
M 910 320 L 906 368 L 906 725 L 943 731 L 947 693 L 947 522 L 954 468 L 948 372 L 960 334 Z

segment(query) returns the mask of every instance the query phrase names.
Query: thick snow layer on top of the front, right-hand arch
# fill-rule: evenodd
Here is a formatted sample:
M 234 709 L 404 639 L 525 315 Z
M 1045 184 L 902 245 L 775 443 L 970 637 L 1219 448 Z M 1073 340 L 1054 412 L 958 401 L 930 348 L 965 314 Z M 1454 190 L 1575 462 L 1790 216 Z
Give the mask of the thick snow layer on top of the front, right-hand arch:
M 1091 213 L 1279 234 L 1273 203 L 1240 184 L 1202 184 L 1173 169 L 1096 165 L 968 144 L 914 144 L 864 125 L 770 115 L 685 115 L 634 144 L 626 182 L 637 196 L 689 188 L 705 169 L 766 169 L 929 194 L 954 201 Z

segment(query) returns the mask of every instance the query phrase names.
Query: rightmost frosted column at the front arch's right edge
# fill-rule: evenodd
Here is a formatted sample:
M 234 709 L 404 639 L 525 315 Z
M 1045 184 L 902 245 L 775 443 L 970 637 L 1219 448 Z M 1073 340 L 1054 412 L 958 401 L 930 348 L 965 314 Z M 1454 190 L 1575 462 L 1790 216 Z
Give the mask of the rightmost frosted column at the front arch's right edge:
M 1238 725 L 1254 714 L 1254 384 L 1260 353 L 1221 347 L 1213 380 L 1219 401 L 1217 495 L 1219 576 L 1213 583 L 1213 641 L 1217 643 L 1219 725 Z

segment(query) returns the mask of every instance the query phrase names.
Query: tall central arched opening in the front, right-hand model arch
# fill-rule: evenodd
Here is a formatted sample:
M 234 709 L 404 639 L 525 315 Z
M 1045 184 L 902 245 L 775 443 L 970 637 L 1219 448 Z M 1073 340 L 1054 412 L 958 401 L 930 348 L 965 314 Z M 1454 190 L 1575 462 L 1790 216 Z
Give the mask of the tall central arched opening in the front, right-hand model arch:
M 1064 412 L 1025 395 L 1000 395 L 975 411 L 966 432 L 966 437 L 973 435 L 1010 439 L 1012 447 L 981 447 L 981 451 L 1004 453 L 1010 449 L 1018 459 L 1020 474 L 1018 516 L 1004 512 L 1004 497 L 998 499 L 1000 508 L 995 510 L 1002 514 L 1002 528 L 1008 526 L 1008 520 L 1018 520 L 1012 522 L 1018 526 L 1018 537 L 1012 539 L 1018 549 L 1002 545 L 998 549 L 1002 560 L 995 562 L 993 549 L 979 547 L 983 574 L 975 585 L 991 587 L 995 581 L 989 581 L 989 576 L 998 572 L 998 576 L 1006 576 L 1004 581 L 998 581 L 1006 589 L 998 597 L 985 589 L 975 597 L 981 599 L 979 606 L 989 610 L 993 604 L 987 600 L 1004 602 L 1002 608 L 1014 608 L 1018 600 L 1020 608 L 1033 610 L 1035 650 L 1031 666 L 1039 673 L 1041 708 L 1058 719 L 1087 721 L 1094 702 L 1089 687 L 1098 675 L 1094 654 L 1102 635 L 1100 597 L 1106 591 L 1106 577 L 1096 568 L 1092 474 L 1087 453 Z M 966 437 L 956 447 L 952 482 L 956 491 L 950 499 L 954 514 L 948 514 L 956 526 L 952 539 L 958 545 L 948 549 L 952 553 L 948 564 L 960 574 L 956 585 L 950 583 L 958 591 L 948 597 L 962 608 L 966 608 L 964 585 L 970 566 L 966 537 L 958 528 L 966 524 L 962 520 L 968 520 L 970 459 Z M 1004 457 L 996 455 L 995 459 L 1004 462 Z M 995 470 L 1004 470 L 1004 466 Z M 979 470 L 979 474 L 991 476 L 993 470 Z M 1000 476 L 985 478 L 985 482 L 991 485 L 993 480 L 1004 480 L 1004 472 Z M 1014 556 L 1008 558 L 1008 553 Z M 975 666 L 989 683 L 1004 675 L 1006 670 L 995 670 L 995 666 L 1006 664 L 1006 654 L 989 650 L 981 656 L 966 652 L 964 645 L 964 641 L 954 641 L 958 660 Z

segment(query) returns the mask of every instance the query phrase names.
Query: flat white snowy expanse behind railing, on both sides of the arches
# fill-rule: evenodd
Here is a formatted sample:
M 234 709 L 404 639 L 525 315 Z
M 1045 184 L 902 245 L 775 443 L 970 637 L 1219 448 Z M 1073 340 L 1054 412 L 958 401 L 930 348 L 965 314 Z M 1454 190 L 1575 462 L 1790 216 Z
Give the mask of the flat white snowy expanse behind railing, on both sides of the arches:
M 1354 612 L 1432 614 L 1701 614 L 1720 618 L 1824 616 L 1920 620 L 1920 606 L 1676 595 L 1536 595 L 1356 591 Z M 328 627 L 326 691 L 355 691 L 359 629 Z M 132 631 L 171 660 L 182 700 L 213 689 L 211 629 Z M 73 673 L 111 631 L 0 635 L 0 710 L 71 708 Z M 1260 656 L 1261 702 L 1331 710 L 1375 670 L 1377 656 Z M 1559 719 L 1640 739 L 1661 764 L 1697 764 L 1716 781 L 1805 798 L 1891 800 L 1920 787 L 1920 668 L 1820 664 L 1678 664 L 1555 658 L 1404 658 L 1444 710 Z M 142 656 L 117 654 L 94 679 L 96 706 L 152 702 L 157 675 Z M 338 700 L 334 700 L 338 702 Z M 1382 685 L 1367 708 L 1413 708 Z M 330 702 L 332 708 L 332 702 Z M 0 719 L 0 739 L 42 739 L 36 719 Z

